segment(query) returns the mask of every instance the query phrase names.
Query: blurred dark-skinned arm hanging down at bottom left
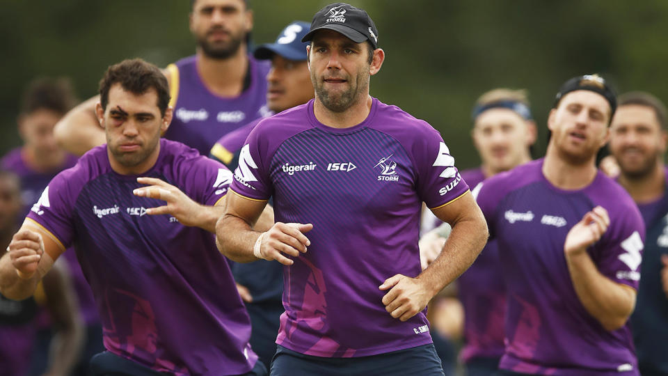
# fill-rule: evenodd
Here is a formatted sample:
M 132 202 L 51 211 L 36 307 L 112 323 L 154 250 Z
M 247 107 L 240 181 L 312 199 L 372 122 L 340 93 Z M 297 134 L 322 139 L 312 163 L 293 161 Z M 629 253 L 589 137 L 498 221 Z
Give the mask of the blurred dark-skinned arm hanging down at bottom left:
M 49 346 L 49 366 L 45 375 L 69 375 L 84 345 L 86 329 L 66 266 L 56 263 L 42 280 L 47 308 L 56 327 Z

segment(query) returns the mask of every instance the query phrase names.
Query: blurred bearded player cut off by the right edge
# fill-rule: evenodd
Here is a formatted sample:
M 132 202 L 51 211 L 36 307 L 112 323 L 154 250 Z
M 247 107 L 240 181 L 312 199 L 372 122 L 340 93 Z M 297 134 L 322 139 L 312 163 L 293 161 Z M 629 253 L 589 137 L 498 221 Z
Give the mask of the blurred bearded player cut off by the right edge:
M 643 376 L 668 375 L 667 121 L 666 107 L 657 97 L 633 92 L 619 96 L 610 125 L 609 148 L 620 171 L 617 182 L 638 205 L 647 232 L 631 316 Z

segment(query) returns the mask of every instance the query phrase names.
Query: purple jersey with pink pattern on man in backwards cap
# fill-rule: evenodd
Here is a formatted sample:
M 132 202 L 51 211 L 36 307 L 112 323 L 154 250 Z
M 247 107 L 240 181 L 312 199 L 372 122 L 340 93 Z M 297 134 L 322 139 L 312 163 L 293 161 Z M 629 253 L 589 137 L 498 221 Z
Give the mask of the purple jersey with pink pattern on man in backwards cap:
M 607 331 L 587 312 L 568 272 L 564 241 L 584 214 L 601 205 L 610 226 L 587 252 L 603 276 L 637 289 L 642 217 L 626 191 L 600 171 L 587 187 L 566 191 L 548 182 L 542 167 L 539 159 L 495 175 L 477 194 L 508 291 L 500 368 L 540 375 L 638 375 L 628 324 Z

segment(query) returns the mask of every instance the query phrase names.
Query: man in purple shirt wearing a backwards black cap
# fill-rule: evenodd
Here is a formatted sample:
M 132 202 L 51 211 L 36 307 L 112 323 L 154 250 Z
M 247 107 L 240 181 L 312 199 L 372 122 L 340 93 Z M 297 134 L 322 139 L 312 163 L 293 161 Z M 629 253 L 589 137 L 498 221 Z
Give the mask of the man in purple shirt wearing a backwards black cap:
M 475 189 L 507 288 L 504 375 L 639 375 L 627 321 L 645 230 L 594 164 L 616 105 L 598 75 L 569 79 L 546 157 Z

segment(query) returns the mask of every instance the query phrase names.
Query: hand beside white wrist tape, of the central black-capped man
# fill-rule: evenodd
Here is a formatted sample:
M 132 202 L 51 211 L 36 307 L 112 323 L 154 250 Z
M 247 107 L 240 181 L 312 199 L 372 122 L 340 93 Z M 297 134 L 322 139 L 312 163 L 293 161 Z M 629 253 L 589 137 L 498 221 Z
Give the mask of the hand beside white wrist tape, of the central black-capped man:
M 311 245 L 308 233 L 313 228 L 312 224 L 284 224 L 276 222 L 269 231 L 262 233 L 255 242 L 253 255 L 264 260 L 276 260 L 283 265 L 292 265 L 293 260 L 283 256 L 285 253 L 292 257 L 305 253 L 306 247 Z

